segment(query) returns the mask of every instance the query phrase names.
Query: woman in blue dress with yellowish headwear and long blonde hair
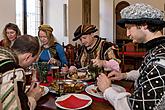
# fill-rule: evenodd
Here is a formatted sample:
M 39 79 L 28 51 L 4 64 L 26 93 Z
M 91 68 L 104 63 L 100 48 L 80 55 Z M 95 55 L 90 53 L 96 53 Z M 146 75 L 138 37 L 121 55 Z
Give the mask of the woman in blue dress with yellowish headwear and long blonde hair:
M 47 62 L 48 64 L 57 65 L 66 69 L 68 68 L 68 61 L 64 48 L 56 41 L 52 32 L 53 28 L 50 25 L 43 24 L 39 26 L 38 36 L 41 41 L 41 53 L 38 61 Z

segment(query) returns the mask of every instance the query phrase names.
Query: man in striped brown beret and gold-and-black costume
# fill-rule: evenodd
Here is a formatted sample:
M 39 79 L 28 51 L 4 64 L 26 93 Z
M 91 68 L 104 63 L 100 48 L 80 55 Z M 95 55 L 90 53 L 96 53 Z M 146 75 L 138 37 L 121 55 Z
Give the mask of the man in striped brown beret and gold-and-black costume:
M 96 26 L 80 25 L 75 33 L 73 41 L 80 40 L 82 46 L 79 48 L 75 66 L 82 68 L 91 63 L 98 67 L 109 68 L 111 70 L 120 70 L 118 48 L 111 42 L 107 42 L 95 35 Z M 72 71 L 74 67 L 70 67 Z

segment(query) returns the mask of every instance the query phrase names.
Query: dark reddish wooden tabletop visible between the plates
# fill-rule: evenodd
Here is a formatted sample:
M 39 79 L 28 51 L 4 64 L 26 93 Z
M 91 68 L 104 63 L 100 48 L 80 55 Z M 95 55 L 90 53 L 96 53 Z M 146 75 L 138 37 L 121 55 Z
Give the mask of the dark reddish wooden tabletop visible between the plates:
M 49 76 L 50 77 L 50 76 Z M 48 78 L 50 82 L 53 81 L 53 79 Z M 49 83 L 50 83 L 49 82 Z M 132 82 L 129 81 L 115 81 L 114 84 L 123 86 L 126 91 L 131 92 L 132 88 Z M 48 86 L 49 84 L 43 84 L 44 86 Z M 82 92 L 82 94 L 88 95 L 85 91 Z M 88 95 L 92 98 L 92 104 L 85 108 L 85 110 L 114 110 L 112 105 L 105 101 L 104 99 L 99 99 L 94 96 Z M 49 92 L 47 95 L 41 97 L 41 99 L 37 102 L 37 107 L 35 110 L 60 110 L 60 108 L 57 108 L 55 105 L 55 100 L 57 96 L 54 93 Z

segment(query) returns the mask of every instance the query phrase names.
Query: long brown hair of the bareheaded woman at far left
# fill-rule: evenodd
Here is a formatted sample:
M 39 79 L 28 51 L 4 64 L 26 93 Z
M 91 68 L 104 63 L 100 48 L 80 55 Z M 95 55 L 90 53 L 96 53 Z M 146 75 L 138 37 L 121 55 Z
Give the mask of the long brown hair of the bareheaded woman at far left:
M 11 41 L 7 37 L 7 33 L 6 33 L 7 29 L 14 30 L 16 32 L 16 36 L 21 35 L 21 31 L 16 24 L 14 24 L 14 23 L 6 24 L 5 28 L 3 29 L 3 38 L 4 38 L 3 46 L 4 47 L 10 47 L 10 45 L 11 45 Z

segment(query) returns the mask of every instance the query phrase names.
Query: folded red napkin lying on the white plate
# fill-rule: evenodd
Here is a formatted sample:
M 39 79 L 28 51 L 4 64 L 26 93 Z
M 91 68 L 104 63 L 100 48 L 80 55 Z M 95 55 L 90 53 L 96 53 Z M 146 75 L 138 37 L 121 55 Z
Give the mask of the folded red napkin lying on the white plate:
M 80 99 L 74 95 L 71 95 L 67 99 L 63 101 L 57 101 L 56 103 L 65 108 L 76 109 L 85 106 L 86 104 L 88 104 L 89 101 L 90 100 Z

